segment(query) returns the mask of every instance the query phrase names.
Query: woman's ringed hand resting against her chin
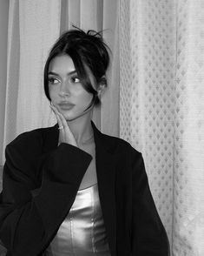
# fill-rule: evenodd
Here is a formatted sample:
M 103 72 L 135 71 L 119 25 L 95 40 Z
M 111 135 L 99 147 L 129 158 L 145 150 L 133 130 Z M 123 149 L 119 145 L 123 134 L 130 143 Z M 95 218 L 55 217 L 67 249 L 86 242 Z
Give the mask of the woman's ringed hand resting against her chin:
M 59 139 L 60 143 L 68 143 L 70 145 L 75 145 L 78 147 L 76 143 L 76 138 L 74 137 L 73 133 L 69 129 L 69 125 L 66 119 L 63 117 L 59 111 L 57 111 L 56 107 L 53 104 L 50 104 L 50 108 L 54 111 L 57 119 L 57 123 L 59 125 Z

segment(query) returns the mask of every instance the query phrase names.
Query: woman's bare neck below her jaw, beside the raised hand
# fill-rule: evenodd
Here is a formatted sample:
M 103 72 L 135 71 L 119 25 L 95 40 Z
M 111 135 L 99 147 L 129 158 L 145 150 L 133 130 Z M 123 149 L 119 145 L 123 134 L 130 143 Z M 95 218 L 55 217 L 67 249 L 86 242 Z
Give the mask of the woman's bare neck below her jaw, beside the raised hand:
M 91 126 L 92 111 L 75 120 L 67 121 L 70 131 L 76 138 L 76 143 L 82 145 L 90 138 L 93 138 L 94 132 Z

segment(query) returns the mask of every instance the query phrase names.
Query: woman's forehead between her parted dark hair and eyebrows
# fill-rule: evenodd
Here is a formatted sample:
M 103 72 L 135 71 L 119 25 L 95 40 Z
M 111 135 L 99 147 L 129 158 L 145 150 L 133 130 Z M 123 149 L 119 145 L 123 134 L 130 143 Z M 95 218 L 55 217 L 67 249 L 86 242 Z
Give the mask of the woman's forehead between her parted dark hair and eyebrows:
M 75 70 L 75 64 L 69 55 L 56 56 L 49 63 L 49 71 L 56 73 L 68 73 Z

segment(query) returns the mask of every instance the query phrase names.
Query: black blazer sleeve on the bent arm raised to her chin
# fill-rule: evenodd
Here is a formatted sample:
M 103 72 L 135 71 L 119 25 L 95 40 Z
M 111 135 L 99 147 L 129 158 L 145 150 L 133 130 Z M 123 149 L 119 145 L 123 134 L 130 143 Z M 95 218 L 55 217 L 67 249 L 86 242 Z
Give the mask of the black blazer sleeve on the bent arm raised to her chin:
M 36 138 L 23 138 L 6 147 L 0 239 L 9 255 L 43 253 L 69 212 L 92 158 L 75 146 L 59 145 L 44 161 L 42 185 L 37 189 L 33 170 L 41 151 L 37 143 Z

